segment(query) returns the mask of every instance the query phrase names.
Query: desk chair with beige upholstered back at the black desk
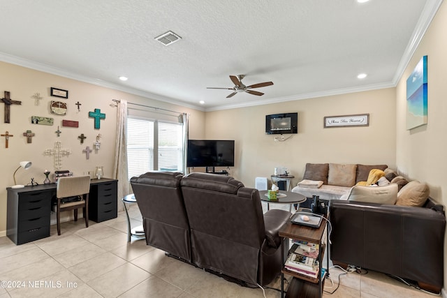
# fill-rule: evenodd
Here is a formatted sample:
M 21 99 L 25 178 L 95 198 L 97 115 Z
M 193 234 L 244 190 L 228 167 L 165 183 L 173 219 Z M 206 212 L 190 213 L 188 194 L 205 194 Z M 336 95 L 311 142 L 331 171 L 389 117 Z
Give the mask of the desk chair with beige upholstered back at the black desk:
M 85 218 L 85 228 L 89 228 L 89 192 L 90 176 L 60 177 L 57 181 L 57 234 L 61 234 L 61 212 L 74 210 L 75 221 L 78 221 L 78 208 L 82 208 Z M 74 202 L 61 202 L 63 198 L 79 196 Z

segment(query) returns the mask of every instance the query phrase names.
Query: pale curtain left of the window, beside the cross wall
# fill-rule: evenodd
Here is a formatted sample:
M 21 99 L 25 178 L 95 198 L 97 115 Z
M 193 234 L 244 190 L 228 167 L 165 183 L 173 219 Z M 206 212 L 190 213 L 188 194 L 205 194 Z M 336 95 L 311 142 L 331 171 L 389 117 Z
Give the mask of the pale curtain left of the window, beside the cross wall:
M 117 134 L 115 137 L 115 161 L 113 178 L 118 180 L 118 211 L 124 210 L 121 199 L 131 192 L 127 174 L 127 100 L 119 100 L 117 106 Z

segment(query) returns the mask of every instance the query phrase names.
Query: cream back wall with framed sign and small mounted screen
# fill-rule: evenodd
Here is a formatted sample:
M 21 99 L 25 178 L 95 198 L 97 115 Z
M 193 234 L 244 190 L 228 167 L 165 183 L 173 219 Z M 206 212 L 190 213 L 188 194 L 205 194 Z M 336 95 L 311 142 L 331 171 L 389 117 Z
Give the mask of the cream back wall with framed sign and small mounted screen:
M 298 134 L 274 142 L 265 134 L 265 115 L 298 112 Z M 323 117 L 369 114 L 369 126 L 323 128 Z M 395 89 L 294 100 L 233 110 L 207 112 L 208 139 L 235 140 L 235 167 L 230 174 L 246 186 L 287 167 L 302 179 L 306 163 L 386 164 L 395 167 Z

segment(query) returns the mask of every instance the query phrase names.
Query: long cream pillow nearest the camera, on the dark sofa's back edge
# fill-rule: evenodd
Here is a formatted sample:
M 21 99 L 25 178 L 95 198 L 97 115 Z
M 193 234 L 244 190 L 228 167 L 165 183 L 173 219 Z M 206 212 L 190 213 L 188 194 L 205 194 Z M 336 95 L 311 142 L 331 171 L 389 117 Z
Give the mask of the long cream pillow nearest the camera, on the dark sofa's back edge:
M 397 184 L 387 186 L 354 186 L 348 200 L 377 204 L 395 204 L 397 200 Z

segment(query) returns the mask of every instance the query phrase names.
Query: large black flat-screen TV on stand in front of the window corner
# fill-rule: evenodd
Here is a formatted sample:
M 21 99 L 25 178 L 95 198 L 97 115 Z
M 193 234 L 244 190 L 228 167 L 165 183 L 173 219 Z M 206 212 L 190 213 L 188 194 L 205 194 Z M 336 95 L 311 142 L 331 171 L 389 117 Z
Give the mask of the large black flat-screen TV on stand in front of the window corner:
M 188 140 L 188 167 L 234 167 L 234 140 Z

